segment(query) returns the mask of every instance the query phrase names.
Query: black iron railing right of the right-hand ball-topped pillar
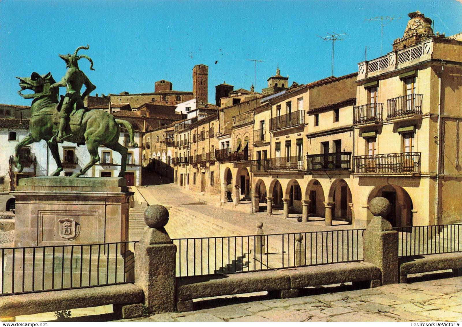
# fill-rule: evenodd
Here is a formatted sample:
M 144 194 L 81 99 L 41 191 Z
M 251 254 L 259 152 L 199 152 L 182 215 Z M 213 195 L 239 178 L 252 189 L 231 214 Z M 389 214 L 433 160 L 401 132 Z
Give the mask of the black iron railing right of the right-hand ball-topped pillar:
M 394 227 L 399 233 L 398 255 L 412 257 L 462 251 L 462 225 Z

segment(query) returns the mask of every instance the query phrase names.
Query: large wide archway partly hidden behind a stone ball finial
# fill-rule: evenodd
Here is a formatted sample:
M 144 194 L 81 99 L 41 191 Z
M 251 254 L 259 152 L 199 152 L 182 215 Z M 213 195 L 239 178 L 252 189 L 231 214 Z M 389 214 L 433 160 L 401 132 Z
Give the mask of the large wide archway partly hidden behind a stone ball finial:
M 374 197 L 385 197 L 391 206 L 389 214 L 385 217 L 393 227 L 412 226 L 412 199 L 405 189 L 394 184 L 375 187 L 369 194 L 368 203 Z M 371 213 L 368 213 L 371 215 Z M 372 215 L 368 216 L 368 220 Z

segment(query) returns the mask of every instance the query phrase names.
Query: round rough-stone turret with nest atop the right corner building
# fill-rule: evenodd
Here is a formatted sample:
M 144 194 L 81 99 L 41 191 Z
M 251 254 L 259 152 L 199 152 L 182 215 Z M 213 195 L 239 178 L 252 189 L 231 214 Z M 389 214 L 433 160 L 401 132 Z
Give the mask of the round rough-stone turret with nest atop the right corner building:
M 435 36 L 432 30 L 432 19 L 425 17 L 419 11 L 409 12 L 407 16 L 410 19 L 407 22 L 406 30 L 404 30 L 402 38 L 397 38 L 393 41 L 393 51 L 406 49 L 426 38 Z

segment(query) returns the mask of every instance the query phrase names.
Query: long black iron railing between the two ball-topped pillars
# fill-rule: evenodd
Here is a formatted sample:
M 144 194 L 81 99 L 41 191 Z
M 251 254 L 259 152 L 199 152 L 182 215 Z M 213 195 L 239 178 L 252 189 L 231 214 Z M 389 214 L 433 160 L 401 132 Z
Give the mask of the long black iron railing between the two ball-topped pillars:
M 174 239 L 176 276 L 220 275 L 363 259 L 364 229 Z

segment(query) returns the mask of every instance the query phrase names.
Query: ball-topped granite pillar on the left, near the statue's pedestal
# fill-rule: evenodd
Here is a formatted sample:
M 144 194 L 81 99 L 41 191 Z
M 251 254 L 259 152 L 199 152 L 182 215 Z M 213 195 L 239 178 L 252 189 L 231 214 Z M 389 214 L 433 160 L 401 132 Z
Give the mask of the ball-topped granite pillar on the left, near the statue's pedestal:
M 152 314 L 176 310 L 176 245 L 164 226 L 169 212 L 162 205 L 147 207 L 145 229 L 135 247 L 135 285 L 144 292 L 144 305 Z

